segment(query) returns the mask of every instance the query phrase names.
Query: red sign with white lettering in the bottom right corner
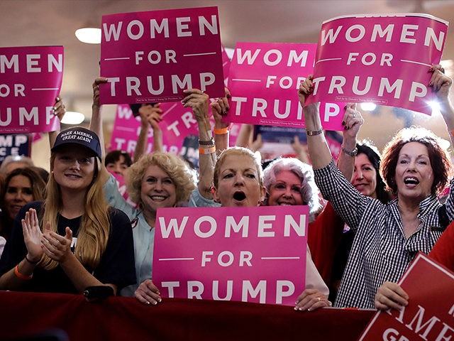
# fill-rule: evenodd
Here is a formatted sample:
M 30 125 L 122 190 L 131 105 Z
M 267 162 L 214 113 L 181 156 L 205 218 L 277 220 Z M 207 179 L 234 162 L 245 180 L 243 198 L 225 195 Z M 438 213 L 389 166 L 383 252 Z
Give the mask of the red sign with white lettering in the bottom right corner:
M 419 253 L 399 284 L 409 294 L 409 304 L 400 311 L 378 312 L 358 340 L 452 340 L 453 272 Z

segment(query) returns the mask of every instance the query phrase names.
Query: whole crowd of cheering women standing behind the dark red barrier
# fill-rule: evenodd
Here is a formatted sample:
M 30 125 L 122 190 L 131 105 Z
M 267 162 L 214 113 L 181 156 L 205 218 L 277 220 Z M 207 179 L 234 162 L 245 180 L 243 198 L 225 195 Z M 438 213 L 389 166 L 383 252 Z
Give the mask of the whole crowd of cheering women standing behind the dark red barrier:
M 452 80 L 438 65 L 429 71 L 453 134 Z M 121 151 L 106 156 L 99 105 L 99 85 L 105 82 L 99 77 L 93 84 L 90 129 L 74 127 L 50 139 L 48 180 L 30 165 L 5 172 L 1 290 L 81 293 L 89 286 L 109 286 L 113 294 L 156 305 L 162 302 L 153 283 L 157 210 L 182 206 L 308 205 L 306 287 L 299 288 L 295 310 L 399 309 L 411 298 L 397 281 L 419 251 L 454 270 L 454 198 L 452 192 L 443 203 L 438 197 L 453 166 L 431 131 L 403 129 L 380 156 L 370 141 L 357 141 L 364 120 L 355 104 L 347 104 L 342 152 L 335 163 L 317 104 L 305 105 L 313 90 L 309 75 L 298 95 L 311 165 L 278 158 L 263 167 L 246 146 L 229 146 L 223 119 L 228 90 L 210 103 L 206 93 L 188 89 L 182 105 L 192 109 L 199 128 L 196 174 L 179 156 L 162 152 L 159 104 L 135 108 L 142 131 L 133 159 Z M 55 114 L 61 116 L 62 109 L 57 99 Z M 145 154 L 149 126 L 154 151 Z M 135 205 L 118 190 L 116 176 L 124 176 Z

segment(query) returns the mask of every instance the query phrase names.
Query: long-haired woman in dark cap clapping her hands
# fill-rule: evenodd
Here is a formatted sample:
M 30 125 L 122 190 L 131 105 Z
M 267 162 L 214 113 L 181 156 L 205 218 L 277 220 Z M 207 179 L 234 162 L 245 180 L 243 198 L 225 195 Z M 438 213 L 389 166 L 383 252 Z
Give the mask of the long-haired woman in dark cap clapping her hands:
M 99 177 L 101 147 L 93 131 L 61 131 L 51 149 L 43 202 L 18 213 L 0 261 L 0 289 L 82 293 L 135 282 L 128 217 L 107 204 Z

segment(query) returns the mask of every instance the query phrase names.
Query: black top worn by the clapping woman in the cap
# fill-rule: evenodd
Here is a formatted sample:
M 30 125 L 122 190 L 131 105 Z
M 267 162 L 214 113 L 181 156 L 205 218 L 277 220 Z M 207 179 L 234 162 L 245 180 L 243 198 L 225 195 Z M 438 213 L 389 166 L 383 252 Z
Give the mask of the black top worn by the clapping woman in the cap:
M 18 212 L 14 221 L 11 236 L 6 242 L 5 249 L 0 259 L 0 275 L 13 269 L 27 254 L 26 244 L 23 241 L 21 220 L 30 208 L 40 212 L 43 202 L 31 202 Z M 109 209 L 111 231 L 106 250 L 101 255 L 101 261 L 96 269 L 89 271 L 101 283 L 112 283 L 118 286 L 118 291 L 124 286 L 135 283 L 134 244 L 131 222 L 121 210 L 111 207 Z M 65 228 L 72 230 L 73 244 L 77 243 L 77 234 L 82 217 L 67 219 L 58 216 L 57 232 L 65 235 Z M 72 246 L 74 252 L 74 246 Z M 62 268 L 57 266 L 52 270 L 36 267 L 33 278 L 24 283 L 21 291 L 35 291 L 46 293 L 77 293 Z

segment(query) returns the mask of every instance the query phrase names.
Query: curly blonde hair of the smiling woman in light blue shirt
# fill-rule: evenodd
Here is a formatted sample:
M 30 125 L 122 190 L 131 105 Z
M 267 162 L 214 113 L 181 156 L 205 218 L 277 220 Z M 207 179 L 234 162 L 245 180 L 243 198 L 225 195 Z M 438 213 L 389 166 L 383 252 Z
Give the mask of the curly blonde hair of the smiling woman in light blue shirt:
M 140 198 L 140 190 L 142 188 L 143 175 L 150 166 L 161 168 L 172 179 L 177 194 L 175 204 L 189 200 L 192 190 L 196 187 L 194 184 L 195 178 L 189 166 L 178 156 L 155 151 L 139 158 L 126 171 L 126 188 L 133 202 L 137 202 L 140 207 L 143 205 Z

